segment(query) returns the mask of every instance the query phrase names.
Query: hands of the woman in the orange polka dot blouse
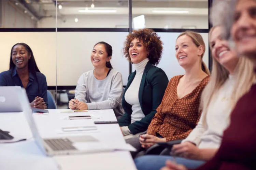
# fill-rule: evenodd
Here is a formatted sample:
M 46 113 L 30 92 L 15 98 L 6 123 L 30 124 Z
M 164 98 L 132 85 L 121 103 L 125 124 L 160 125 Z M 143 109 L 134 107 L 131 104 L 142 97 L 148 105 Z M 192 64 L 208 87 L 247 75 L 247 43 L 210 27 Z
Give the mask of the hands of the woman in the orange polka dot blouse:
M 139 140 L 142 148 L 149 148 L 157 142 L 165 142 L 166 138 L 159 138 L 154 135 L 144 134 L 140 135 Z

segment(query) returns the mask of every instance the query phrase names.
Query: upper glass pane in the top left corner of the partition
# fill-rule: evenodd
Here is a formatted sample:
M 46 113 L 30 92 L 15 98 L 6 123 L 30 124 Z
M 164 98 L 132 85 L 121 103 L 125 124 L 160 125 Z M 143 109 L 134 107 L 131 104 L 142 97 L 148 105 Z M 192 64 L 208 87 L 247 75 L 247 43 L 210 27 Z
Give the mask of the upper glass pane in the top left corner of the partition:
M 43 22 L 45 18 L 55 16 L 54 10 L 52 15 L 46 13 L 54 6 L 53 1 L 1 0 L 1 28 L 54 28 L 55 22 Z

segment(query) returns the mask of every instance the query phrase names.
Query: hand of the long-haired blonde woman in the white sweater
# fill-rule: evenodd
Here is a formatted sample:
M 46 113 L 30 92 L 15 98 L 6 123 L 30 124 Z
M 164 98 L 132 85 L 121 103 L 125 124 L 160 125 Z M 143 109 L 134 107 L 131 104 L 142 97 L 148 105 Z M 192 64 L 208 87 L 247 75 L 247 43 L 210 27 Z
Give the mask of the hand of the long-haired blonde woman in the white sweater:
M 200 149 L 189 141 L 186 141 L 178 145 L 173 145 L 172 153 L 177 156 L 181 156 L 189 159 L 197 159 L 197 160 L 202 159 L 202 154 Z

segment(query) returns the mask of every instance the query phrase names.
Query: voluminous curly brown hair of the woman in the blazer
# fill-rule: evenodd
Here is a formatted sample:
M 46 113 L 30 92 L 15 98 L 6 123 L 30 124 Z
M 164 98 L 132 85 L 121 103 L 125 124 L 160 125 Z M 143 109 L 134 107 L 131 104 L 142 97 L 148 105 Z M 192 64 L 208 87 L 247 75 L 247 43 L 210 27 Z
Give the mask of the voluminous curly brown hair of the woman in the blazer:
M 140 30 L 133 30 L 132 33 L 127 35 L 126 41 L 124 43 L 123 52 L 129 62 L 131 62 L 131 57 L 129 55 L 129 48 L 131 41 L 138 38 L 147 48 L 150 63 L 152 65 L 158 65 L 162 57 L 163 43 L 157 33 L 151 29 L 144 28 Z

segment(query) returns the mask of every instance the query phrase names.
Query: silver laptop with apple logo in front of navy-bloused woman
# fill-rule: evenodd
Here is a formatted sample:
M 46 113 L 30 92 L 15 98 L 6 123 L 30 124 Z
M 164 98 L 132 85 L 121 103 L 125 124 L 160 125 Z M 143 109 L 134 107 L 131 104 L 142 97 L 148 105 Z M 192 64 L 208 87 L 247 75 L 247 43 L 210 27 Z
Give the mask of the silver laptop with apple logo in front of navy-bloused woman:
M 18 98 L 18 94 L 21 89 L 22 88 L 20 86 L 1 86 L 0 87 L 0 112 L 22 112 L 23 111 Z

